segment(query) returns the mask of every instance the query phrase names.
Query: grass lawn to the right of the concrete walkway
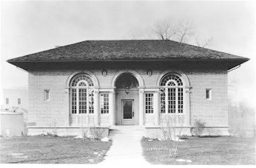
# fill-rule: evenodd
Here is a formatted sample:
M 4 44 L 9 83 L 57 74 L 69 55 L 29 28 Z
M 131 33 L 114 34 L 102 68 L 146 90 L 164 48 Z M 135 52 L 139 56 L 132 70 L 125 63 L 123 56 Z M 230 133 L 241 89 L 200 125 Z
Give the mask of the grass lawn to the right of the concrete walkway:
M 179 142 L 177 158 L 169 158 L 164 141 L 141 140 L 144 158 L 151 164 L 255 164 L 255 139 L 230 136 L 189 137 Z M 176 159 L 192 161 L 179 162 Z

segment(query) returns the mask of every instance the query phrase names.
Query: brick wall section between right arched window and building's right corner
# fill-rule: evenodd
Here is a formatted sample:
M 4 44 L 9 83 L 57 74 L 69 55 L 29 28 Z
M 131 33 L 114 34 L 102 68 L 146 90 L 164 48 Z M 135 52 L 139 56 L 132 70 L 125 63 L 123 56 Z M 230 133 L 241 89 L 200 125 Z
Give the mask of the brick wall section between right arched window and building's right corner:
M 194 119 L 200 119 L 206 126 L 227 126 L 227 72 L 194 71 L 186 72 L 192 86 L 190 94 L 190 113 Z M 212 88 L 212 99 L 206 99 L 206 88 Z

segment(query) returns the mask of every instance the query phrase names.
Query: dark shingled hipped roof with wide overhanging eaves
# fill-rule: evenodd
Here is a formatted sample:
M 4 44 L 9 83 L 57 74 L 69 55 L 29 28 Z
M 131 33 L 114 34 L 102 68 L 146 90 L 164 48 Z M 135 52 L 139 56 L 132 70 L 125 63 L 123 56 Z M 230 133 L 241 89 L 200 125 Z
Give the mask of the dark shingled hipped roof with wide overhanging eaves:
M 163 60 L 249 60 L 212 49 L 176 41 L 82 41 L 32 55 L 7 60 L 8 63 L 73 61 L 163 61 Z

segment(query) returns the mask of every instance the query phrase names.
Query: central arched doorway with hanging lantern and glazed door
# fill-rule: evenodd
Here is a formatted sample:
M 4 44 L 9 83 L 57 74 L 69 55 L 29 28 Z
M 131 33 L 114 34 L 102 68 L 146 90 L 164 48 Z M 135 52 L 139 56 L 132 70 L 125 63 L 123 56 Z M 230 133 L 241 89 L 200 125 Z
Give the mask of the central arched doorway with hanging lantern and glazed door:
M 138 80 L 129 72 L 115 81 L 116 125 L 138 125 Z

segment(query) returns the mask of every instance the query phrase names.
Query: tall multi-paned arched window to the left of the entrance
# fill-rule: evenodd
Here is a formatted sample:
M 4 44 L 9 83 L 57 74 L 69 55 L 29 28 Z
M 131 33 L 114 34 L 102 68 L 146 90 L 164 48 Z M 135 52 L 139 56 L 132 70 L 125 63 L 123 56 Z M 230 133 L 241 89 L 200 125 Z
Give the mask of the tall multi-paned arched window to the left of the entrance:
M 77 74 L 70 83 L 71 113 L 93 113 L 93 82 L 87 74 Z

